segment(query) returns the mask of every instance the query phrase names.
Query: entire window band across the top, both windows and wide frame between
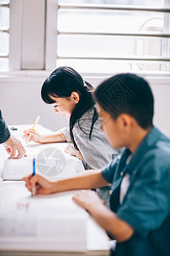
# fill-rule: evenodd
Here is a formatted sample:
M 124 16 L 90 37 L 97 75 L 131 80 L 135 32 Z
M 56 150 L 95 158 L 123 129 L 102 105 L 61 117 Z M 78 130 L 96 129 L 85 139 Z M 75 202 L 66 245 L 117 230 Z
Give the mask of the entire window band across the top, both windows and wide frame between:
M 169 73 L 170 0 L 0 0 L 0 71 L 64 65 Z

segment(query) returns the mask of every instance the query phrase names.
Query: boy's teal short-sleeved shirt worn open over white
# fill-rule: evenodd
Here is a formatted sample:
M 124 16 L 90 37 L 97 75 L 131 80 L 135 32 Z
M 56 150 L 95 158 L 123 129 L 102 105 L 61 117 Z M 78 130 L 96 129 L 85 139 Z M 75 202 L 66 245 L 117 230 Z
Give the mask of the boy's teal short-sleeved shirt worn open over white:
M 120 178 L 126 173 L 130 175 L 127 194 L 116 208 L 116 215 L 132 226 L 135 235 L 144 242 L 150 240 L 150 232 L 153 235 L 167 221 L 168 230 L 159 234 L 161 240 L 166 241 L 167 237 L 170 239 L 170 140 L 153 127 L 126 166 L 128 151 L 126 148 L 122 157 L 102 170 L 105 180 L 112 183 L 113 195 Z M 113 204 L 111 196 L 111 209 L 114 211 Z M 166 243 L 167 250 L 170 249 L 169 243 Z M 170 251 L 167 252 L 169 254 L 162 255 L 170 255 Z

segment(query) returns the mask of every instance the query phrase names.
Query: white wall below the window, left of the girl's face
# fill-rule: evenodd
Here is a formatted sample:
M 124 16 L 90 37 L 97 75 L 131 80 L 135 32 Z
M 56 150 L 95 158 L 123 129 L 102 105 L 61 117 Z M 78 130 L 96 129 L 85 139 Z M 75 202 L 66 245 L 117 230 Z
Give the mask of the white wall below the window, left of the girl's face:
M 6 82 L 0 79 L 0 109 L 8 125 L 32 124 L 40 114 L 40 125 L 52 131 L 67 125 L 68 122 L 54 107 L 42 102 L 40 90 L 43 79 L 14 79 Z

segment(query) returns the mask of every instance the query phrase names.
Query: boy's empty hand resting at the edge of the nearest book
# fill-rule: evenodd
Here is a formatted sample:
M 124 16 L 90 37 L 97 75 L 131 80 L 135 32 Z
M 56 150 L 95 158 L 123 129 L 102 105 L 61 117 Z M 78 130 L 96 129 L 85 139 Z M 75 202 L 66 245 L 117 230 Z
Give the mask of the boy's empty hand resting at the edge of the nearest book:
M 88 212 L 91 212 L 91 209 L 97 205 L 104 205 L 104 201 L 92 190 L 81 190 L 72 197 L 72 200 Z

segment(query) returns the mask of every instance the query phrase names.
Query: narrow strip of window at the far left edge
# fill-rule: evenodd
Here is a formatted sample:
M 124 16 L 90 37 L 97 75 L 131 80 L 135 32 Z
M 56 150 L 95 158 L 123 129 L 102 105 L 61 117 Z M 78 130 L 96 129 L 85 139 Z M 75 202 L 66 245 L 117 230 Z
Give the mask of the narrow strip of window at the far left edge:
M 0 0 L 0 70 L 8 69 L 9 1 Z

